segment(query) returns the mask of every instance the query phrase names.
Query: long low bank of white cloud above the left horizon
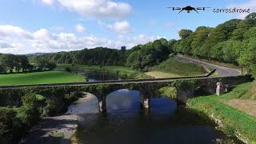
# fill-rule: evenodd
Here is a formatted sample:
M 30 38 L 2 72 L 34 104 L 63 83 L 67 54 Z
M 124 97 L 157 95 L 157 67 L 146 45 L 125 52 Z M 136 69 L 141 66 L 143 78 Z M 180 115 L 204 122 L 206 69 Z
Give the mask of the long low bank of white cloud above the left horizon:
M 106 46 L 120 48 L 144 44 L 162 38 L 160 36 L 138 35 L 135 37 L 118 36 L 117 38 L 98 38 L 93 35 L 78 38 L 75 34 L 54 34 L 46 29 L 34 32 L 24 30 L 18 26 L 0 26 L 0 53 L 29 54 L 35 52 L 58 52 L 70 50 L 82 50 Z

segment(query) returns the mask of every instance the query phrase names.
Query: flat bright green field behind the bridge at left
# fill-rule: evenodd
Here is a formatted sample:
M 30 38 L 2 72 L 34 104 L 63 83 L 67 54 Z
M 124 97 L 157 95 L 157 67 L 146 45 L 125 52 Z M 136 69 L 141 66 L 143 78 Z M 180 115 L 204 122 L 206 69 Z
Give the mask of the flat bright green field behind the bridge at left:
M 27 74 L 1 74 L 0 85 L 85 82 L 83 76 L 63 71 L 44 71 Z

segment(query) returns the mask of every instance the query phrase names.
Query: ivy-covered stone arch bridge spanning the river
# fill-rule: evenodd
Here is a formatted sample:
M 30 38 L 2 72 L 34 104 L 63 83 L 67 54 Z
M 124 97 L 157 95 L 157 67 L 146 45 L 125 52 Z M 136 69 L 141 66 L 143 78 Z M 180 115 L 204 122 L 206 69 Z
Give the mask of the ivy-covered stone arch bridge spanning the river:
M 15 94 L 17 90 L 30 90 L 36 94 L 44 94 L 45 91 L 59 90 L 62 94 L 70 94 L 76 91 L 88 92 L 98 98 L 100 112 L 106 112 L 106 95 L 115 90 L 128 89 L 138 90 L 142 95 L 142 106 L 150 108 L 150 98 L 154 96 L 154 91 L 164 86 L 174 86 L 177 89 L 177 102 L 186 103 L 188 98 L 194 94 L 222 94 L 226 86 L 236 86 L 242 82 L 249 82 L 250 76 L 234 76 L 219 78 L 160 78 L 146 80 L 122 80 L 107 82 L 81 82 L 81 83 L 62 83 L 62 84 L 41 84 L 41 85 L 22 85 L 22 86 L 0 86 L 0 97 Z M 218 83 L 218 85 L 217 85 Z M 16 91 L 15 91 L 16 90 Z M 19 94 L 21 92 L 19 91 Z M 8 98 L 7 98 L 8 99 Z M 14 98 L 11 99 L 14 101 Z M 9 102 L 11 101 L 9 99 Z M 8 100 L 6 100 L 7 103 Z M 16 100 L 18 101 L 18 100 Z M 5 102 L 3 102 L 5 103 Z

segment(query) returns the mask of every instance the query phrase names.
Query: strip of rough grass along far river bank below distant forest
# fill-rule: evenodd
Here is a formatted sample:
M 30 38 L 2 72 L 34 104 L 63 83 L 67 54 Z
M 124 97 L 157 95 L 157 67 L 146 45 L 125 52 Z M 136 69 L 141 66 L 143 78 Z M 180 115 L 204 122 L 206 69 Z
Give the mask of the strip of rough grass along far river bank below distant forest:
M 58 64 L 59 67 L 71 67 L 70 64 Z M 103 68 L 100 66 L 87 66 L 87 65 L 74 65 L 74 67 L 81 69 L 81 70 L 90 70 L 90 71 L 99 71 L 102 72 Z M 117 74 L 120 77 L 124 78 L 136 78 L 136 79 L 145 79 L 145 78 L 152 78 L 142 72 L 137 70 L 130 70 L 128 67 L 125 66 L 105 66 L 105 71 L 111 74 Z

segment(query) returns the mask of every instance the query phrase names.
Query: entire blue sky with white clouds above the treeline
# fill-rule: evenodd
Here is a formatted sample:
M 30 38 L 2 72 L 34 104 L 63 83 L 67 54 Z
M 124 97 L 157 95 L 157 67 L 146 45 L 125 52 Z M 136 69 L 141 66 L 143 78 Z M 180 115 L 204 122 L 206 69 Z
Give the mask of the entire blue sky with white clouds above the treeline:
M 0 53 L 30 54 L 96 46 L 131 48 L 178 30 L 217 26 L 244 14 L 181 13 L 167 6 L 250 8 L 256 0 L 1 0 Z

